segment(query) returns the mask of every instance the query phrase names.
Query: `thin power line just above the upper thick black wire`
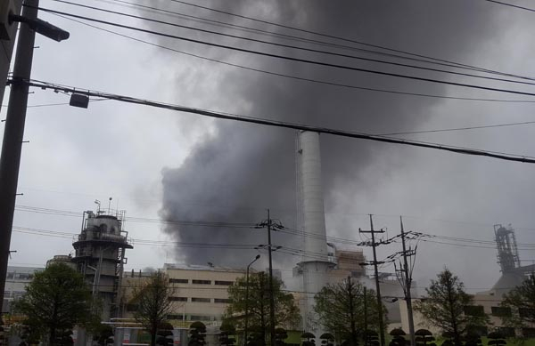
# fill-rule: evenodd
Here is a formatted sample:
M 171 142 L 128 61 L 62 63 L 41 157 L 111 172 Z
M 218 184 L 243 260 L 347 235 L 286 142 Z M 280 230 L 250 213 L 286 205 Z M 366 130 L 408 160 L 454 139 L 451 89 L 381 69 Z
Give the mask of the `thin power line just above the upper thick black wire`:
M 72 2 L 66 1 L 66 0 L 54 0 L 54 1 L 60 2 L 60 3 L 64 3 L 64 4 L 71 4 L 71 5 L 74 5 L 74 6 L 79 6 L 79 7 L 82 7 L 82 8 L 87 8 L 87 9 L 91 9 L 91 10 L 95 10 L 95 11 L 117 14 L 117 15 L 120 15 L 120 16 L 123 16 L 123 17 L 134 18 L 136 20 L 145 20 L 145 21 L 151 21 L 153 23 L 169 25 L 169 26 L 172 26 L 172 27 L 175 27 L 175 28 L 185 28 L 185 29 L 188 29 L 188 30 L 199 31 L 199 32 L 202 32 L 202 33 L 218 35 L 218 36 L 232 37 L 232 38 L 235 38 L 235 39 L 245 40 L 245 41 L 250 41 L 250 42 L 256 42 L 256 43 L 260 43 L 260 44 L 271 44 L 271 45 L 275 45 L 277 47 L 291 48 L 291 49 L 300 50 L 300 51 L 304 51 L 304 52 L 321 53 L 321 54 L 333 55 L 333 56 L 342 57 L 342 58 L 348 58 L 348 59 L 354 59 L 354 60 L 363 60 L 363 61 L 369 61 L 369 62 L 374 62 L 374 63 L 379 63 L 379 64 L 398 66 L 398 67 L 402 67 L 402 68 L 416 68 L 416 69 L 422 69 L 422 70 L 427 70 L 427 71 L 432 71 L 432 72 L 447 73 L 447 74 L 452 74 L 452 75 L 457 75 L 457 76 L 470 76 L 470 77 L 473 77 L 473 78 L 489 79 L 489 80 L 494 80 L 494 81 L 499 81 L 499 82 L 506 82 L 506 83 L 535 85 L 535 83 L 531 83 L 531 82 L 523 82 L 523 81 L 518 81 L 518 80 L 498 78 L 498 77 L 492 77 L 492 76 L 479 76 L 479 75 L 473 75 L 473 74 L 469 74 L 469 73 L 449 71 L 449 70 L 440 69 L 440 68 L 426 68 L 426 67 L 423 67 L 423 66 L 409 65 L 409 64 L 406 64 L 406 63 L 387 61 L 387 60 L 370 59 L 370 58 L 365 58 L 365 57 L 361 57 L 361 56 L 343 54 L 343 53 L 338 53 L 338 52 L 320 51 L 320 50 L 317 50 L 317 49 L 299 47 L 299 46 L 290 45 L 290 44 L 279 44 L 279 43 L 276 43 L 276 42 L 259 40 L 259 39 L 255 39 L 255 38 L 251 38 L 251 37 L 243 37 L 243 36 L 231 35 L 231 34 L 226 34 L 226 33 L 223 33 L 223 32 L 203 29 L 203 28 L 193 28 L 193 27 L 189 27 L 189 26 L 185 26 L 185 25 L 181 25 L 181 24 L 177 24 L 177 23 L 172 23 L 172 22 L 164 21 L 164 20 L 154 20 L 154 19 L 151 19 L 151 18 L 143 17 L 143 16 L 137 16 L 137 15 L 134 15 L 134 14 L 128 14 L 128 13 L 124 13 L 124 12 L 117 12 L 117 11 L 107 10 L 107 9 L 103 9 L 101 7 L 95 7 L 95 6 L 90 6 L 90 5 L 86 5 L 86 4 L 76 4 L 76 3 L 72 3 Z

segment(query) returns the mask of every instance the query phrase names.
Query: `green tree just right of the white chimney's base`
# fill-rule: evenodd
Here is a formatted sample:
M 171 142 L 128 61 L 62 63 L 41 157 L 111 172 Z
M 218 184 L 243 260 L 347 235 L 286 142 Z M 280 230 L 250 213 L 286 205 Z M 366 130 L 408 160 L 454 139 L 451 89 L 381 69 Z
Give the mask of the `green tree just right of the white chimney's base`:
M 333 332 L 340 340 L 344 338 L 352 345 L 358 344 L 358 336 L 365 329 L 379 331 L 379 309 L 375 293 L 348 277 L 339 284 L 330 284 L 316 294 L 314 310 L 325 330 Z M 366 302 L 366 303 L 365 303 Z M 366 305 L 366 307 L 365 307 Z M 383 321 L 386 327 L 387 310 L 383 305 Z

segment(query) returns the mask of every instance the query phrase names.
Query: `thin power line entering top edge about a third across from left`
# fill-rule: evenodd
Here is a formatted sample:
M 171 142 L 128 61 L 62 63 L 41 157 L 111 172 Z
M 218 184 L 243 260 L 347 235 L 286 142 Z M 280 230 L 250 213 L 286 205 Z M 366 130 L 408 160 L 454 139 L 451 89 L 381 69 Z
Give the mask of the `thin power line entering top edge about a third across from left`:
M 237 13 L 234 13 L 234 12 L 221 11 L 221 10 L 213 9 L 211 7 L 202 6 L 202 5 L 199 5 L 199 4 L 191 4 L 191 3 L 187 3 L 185 1 L 179 1 L 179 0 L 170 0 L 170 1 L 172 1 L 174 3 L 178 3 L 178 4 L 186 4 L 186 5 L 189 5 L 189 6 L 202 8 L 204 10 L 208 10 L 208 11 L 212 11 L 212 12 L 224 13 L 224 14 L 227 14 L 227 15 L 230 15 L 230 16 L 243 18 L 243 19 L 246 19 L 246 20 L 253 20 L 253 21 L 257 21 L 259 23 L 273 25 L 273 26 L 276 26 L 276 27 L 279 27 L 279 28 L 288 28 L 288 29 L 291 29 L 291 30 L 300 31 L 300 32 L 307 33 L 307 34 L 312 34 L 312 35 L 317 35 L 317 36 L 324 36 L 324 37 L 333 38 L 333 39 L 336 39 L 336 40 L 341 40 L 341 41 L 344 41 L 344 42 L 350 42 L 352 44 L 366 45 L 366 46 L 373 47 L 373 48 L 383 49 L 385 51 L 399 52 L 399 53 L 407 54 L 407 55 L 410 55 L 410 56 L 416 56 L 418 58 L 424 58 L 424 59 L 429 59 L 429 60 L 441 61 L 441 62 L 445 62 L 445 63 L 449 63 L 449 64 L 455 64 L 455 65 L 457 65 L 459 67 L 475 68 L 477 70 L 484 71 L 484 72 L 503 74 L 504 76 L 514 76 L 514 75 L 511 75 L 511 74 L 504 74 L 502 72 L 495 71 L 495 70 L 492 70 L 492 69 L 478 68 L 478 67 L 467 65 L 467 64 L 463 64 L 463 63 L 460 63 L 460 62 L 433 58 L 431 56 L 427 56 L 427 55 L 423 55 L 423 54 L 417 54 L 417 53 L 414 53 L 414 52 L 407 52 L 407 51 L 403 51 L 403 50 L 399 50 L 399 49 L 393 49 L 393 48 L 389 48 L 389 47 L 386 47 L 386 46 L 383 46 L 383 45 L 379 45 L 379 44 L 368 44 L 366 42 L 357 41 L 357 40 L 353 40 L 353 39 L 342 37 L 342 36 L 334 36 L 334 35 L 329 35 L 329 34 L 317 32 L 317 31 L 312 31 L 312 30 L 307 30 L 307 29 L 303 29 L 303 28 L 291 27 L 291 26 L 288 26 L 288 25 L 279 24 L 279 23 L 276 23 L 276 22 L 273 22 L 273 21 L 268 21 L 268 20 L 259 20 L 257 18 L 244 16 L 244 15 L 237 14 Z M 520 77 L 520 76 L 518 76 L 518 77 Z

